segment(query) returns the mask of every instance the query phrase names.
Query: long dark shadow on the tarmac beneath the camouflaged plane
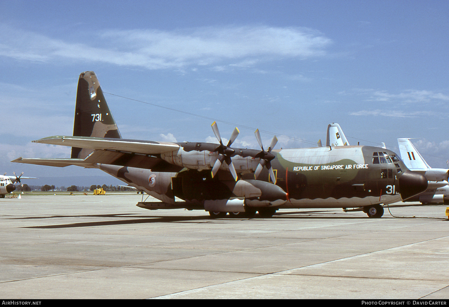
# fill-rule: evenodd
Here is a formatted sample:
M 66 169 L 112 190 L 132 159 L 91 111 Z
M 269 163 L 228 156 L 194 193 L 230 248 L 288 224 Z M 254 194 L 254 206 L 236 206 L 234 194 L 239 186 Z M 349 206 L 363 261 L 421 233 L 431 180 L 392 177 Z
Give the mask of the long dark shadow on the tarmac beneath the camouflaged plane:
M 326 214 L 316 215 L 316 214 Z M 123 218 L 126 215 L 134 214 L 107 214 L 107 215 L 50 215 L 41 217 L 25 217 L 14 219 L 50 219 L 50 218 L 72 218 L 72 217 L 109 217 L 109 218 Z M 333 211 L 290 211 L 290 212 L 278 212 L 270 219 L 369 219 L 366 216 L 332 216 L 335 215 Z M 131 216 L 130 216 L 131 217 Z M 262 219 L 256 215 L 253 219 Z M 194 221 L 206 221 L 206 222 L 220 222 L 233 221 L 239 219 L 222 218 L 211 219 L 209 215 L 200 216 L 160 216 L 160 215 L 143 215 L 134 219 L 120 219 L 109 221 L 97 221 L 97 222 L 83 222 L 83 223 L 71 223 L 71 224 L 55 224 L 55 225 L 42 225 L 42 226 L 26 226 L 23 228 L 71 228 L 71 227 L 92 227 L 92 226 L 110 226 L 110 225 L 125 225 L 125 224 L 146 224 L 146 223 L 172 223 L 172 222 L 194 222 Z M 247 219 L 240 219 L 247 220 Z M 248 219 L 249 220 L 249 219 Z

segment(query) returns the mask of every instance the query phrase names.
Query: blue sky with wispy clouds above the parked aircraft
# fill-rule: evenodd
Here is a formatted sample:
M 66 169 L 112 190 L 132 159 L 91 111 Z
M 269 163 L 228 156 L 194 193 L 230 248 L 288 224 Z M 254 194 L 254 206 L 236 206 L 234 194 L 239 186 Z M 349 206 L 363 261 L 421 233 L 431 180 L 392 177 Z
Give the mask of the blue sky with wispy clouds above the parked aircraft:
M 414 144 L 449 158 L 448 1 L 2 1 L 1 171 L 101 175 L 10 163 L 69 157 L 79 74 L 93 70 L 123 137 L 313 147 L 339 123 L 352 145 Z M 121 98 L 128 97 L 138 101 Z M 154 105 L 198 114 L 167 110 Z M 207 117 L 207 118 L 204 118 Z M 209 119 L 212 118 L 212 119 Z M 233 123 L 233 124 L 228 124 Z M 303 141 L 304 140 L 304 141 Z

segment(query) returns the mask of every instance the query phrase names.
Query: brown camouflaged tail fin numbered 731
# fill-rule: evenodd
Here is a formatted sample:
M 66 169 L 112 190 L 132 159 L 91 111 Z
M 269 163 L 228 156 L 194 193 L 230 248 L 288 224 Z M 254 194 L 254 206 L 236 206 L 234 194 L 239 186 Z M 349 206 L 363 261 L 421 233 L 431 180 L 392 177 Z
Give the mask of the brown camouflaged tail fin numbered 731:
M 73 136 L 122 138 L 93 71 L 79 75 Z M 71 158 L 84 159 L 92 150 L 72 147 Z

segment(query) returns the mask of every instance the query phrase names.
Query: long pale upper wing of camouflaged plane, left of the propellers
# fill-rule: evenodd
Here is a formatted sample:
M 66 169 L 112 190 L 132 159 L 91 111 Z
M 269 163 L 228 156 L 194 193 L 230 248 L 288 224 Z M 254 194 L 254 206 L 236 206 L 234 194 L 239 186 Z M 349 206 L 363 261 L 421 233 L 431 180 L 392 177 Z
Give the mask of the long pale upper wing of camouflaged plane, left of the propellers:
M 176 143 L 145 140 L 113 139 L 91 136 L 48 136 L 34 143 L 63 145 L 90 149 L 111 149 L 131 153 L 168 153 L 180 148 Z

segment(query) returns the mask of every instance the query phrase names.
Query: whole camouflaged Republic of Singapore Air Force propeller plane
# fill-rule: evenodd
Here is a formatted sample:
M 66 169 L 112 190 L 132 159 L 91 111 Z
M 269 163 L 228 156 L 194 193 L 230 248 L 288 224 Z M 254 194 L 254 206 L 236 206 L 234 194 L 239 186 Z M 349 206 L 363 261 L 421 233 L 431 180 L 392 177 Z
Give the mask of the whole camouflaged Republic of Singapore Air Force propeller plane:
M 123 139 L 97 76 L 79 76 L 73 136 L 49 136 L 36 143 L 71 146 L 71 158 L 18 158 L 12 162 L 55 167 L 98 168 L 160 202 L 139 202 L 145 209 L 186 208 L 211 217 L 272 216 L 283 208 L 363 208 L 381 217 L 381 204 L 423 192 L 427 179 L 409 171 L 399 156 L 372 146 L 322 146 L 273 149 L 231 147 L 236 128 L 223 144 Z M 176 198 L 182 201 L 176 201 Z

